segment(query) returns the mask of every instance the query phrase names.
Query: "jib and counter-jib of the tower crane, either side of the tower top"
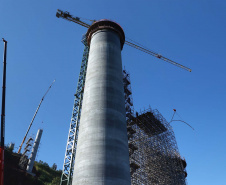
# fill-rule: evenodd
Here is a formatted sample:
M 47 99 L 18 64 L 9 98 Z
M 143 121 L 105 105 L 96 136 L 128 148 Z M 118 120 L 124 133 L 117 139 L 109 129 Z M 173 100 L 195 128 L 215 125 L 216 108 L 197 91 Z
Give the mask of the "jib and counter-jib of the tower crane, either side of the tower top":
M 57 10 L 57 13 L 56 13 L 56 17 L 58 17 L 58 18 L 63 18 L 63 19 L 66 19 L 66 20 L 68 20 L 68 21 L 71 21 L 71 22 L 74 22 L 74 23 L 77 23 L 77 24 L 79 24 L 79 25 L 81 25 L 81 26 L 84 26 L 84 27 L 86 27 L 86 28 L 89 28 L 91 25 L 90 24 L 88 24 L 88 23 L 85 23 L 85 22 L 83 22 L 83 21 L 81 21 L 81 18 L 80 17 L 74 17 L 74 16 L 72 16 L 69 12 L 67 12 L 67 11 L 62 11 L 62 10 Z M 89 20 L 89 19 L 86 19 L 86 20 Z M 89 20 L 89 21 L 91 21 L 92 23 L 94 23 L 95 22 L 95 20 Z M 129 39 L 129 40 L 131 40 L 131 39 Z M 184 69 L 184 70 L 187 70 L 187 71 L 189 71 L 189 72 L 191 72 L 191 69 L 190 68 L 188 68 L 188 67 L 186 67 L 186 66 L 183 66 L 183 65 L 181 65 L 181 64 L 179 64 L 179 63 L 177 63 L 177 62 L 175 62 L 175 61 L 173 61 L 173 60 L 170 60 L 170 59 L 168 59 L 168 58 L 166 58 L 166 57 L 164 57 L 164 56 L 162 56 L 161 54 L 158 54 L 158 53 L 156 53 L 156 52 L 154 52 L 154 51 L 151 51 L 150 49 L 148 49 L 148 48 L 145 48 L 144 46 L 142 46 L 141 44 L 139 44 L 139 43 L 136 43 L 136 42 L 134 42 L 134 41 L 125 41 L 125 44 L 126 45 L 128 45 L 128 46 L 130 46 L 130 47 L 133 47 L 133 48 L 135 48 L 135 49 L 138 49 L 138 50 L 140 50 L 140 51 L 143 51 L 144 53 L 147 53 L 147 54 L 149 54 L 149 55 L 152 55 L 152 56 L 154 56 L 154 57 L 156 57 L 156 58 L 158 58 L 158 59 L 161 59 L 161 60 L 163 60 L 163 61 L 165 61 L 165 62 L 168 62 L 168 63 L 170 63 L 170 64 L 173 64 L 173 65 L 175 65 L 175 66 L 177 66 L 177 67 L 180 67 L 180 68 L 182 68 L 182 69 Z

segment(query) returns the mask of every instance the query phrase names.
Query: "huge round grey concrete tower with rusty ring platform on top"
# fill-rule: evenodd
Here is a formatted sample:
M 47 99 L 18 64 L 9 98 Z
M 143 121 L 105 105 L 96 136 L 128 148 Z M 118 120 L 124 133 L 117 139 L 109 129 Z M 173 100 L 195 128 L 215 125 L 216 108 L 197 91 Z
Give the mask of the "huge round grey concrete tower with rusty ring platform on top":
M 100 20 L 87 32 L 90 45 L 73 185 L 130 185 L 122 81 L 122 28 Z

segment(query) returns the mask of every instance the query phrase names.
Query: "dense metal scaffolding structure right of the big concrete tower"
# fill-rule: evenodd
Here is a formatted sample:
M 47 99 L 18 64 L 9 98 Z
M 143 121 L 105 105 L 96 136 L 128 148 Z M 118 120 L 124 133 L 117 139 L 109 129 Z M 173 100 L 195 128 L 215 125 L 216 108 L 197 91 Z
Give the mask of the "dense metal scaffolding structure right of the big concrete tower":
M 134 114 L 129 74 L 123 74 L 132 185 L 186 184 L 172 127 L 158 110 Z

